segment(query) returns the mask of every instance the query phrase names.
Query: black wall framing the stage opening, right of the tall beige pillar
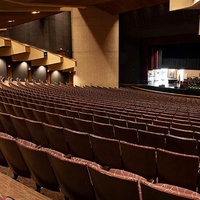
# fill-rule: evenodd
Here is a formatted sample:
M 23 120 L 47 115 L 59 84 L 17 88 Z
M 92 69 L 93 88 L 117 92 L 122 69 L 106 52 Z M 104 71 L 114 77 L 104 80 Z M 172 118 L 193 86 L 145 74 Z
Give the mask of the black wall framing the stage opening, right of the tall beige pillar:
M 144 83 L 151 65 L 151 49 L 171 44 L 200 44 L 199 10 L 169 11 L 169 3 L 123 13 L 119 17 L 120 84 Z M 173 47 L 169 47 L 169 51 Z M 173 56 L 172 56 L 173 57 Z M 173 60 L 162 60 L 167 65 Z M 190 59 L 187 59 L 187 62 Z M 161 63 L 162 63 L 161 62 Z M 191 62 L 198 64 L 199 61 Z M 190 65 L 190 63 L 188 64 Z

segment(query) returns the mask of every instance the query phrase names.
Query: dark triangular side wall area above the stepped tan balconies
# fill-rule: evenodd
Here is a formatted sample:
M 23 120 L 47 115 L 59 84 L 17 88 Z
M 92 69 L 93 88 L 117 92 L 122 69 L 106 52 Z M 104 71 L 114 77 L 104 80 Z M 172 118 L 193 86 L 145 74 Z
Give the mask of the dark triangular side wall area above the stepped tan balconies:
M 25 23 L 4 31 L 0 35 L 51 52 L 62 48 L 68 57 L 72 56 L 70 12 Z

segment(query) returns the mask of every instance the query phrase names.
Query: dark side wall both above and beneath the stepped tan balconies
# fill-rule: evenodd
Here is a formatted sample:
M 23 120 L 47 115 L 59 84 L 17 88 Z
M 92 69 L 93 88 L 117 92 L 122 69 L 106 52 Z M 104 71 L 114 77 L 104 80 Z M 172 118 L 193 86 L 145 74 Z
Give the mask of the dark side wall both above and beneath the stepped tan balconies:
M 17 40 L 56 53 L 61 49 L 66 56 L 72 56 L 71 38 L 71 13 L 63 12 L 40 20 L 25 23 L 7 31 L 1 32 L 1 36 Z M 11 57 L 0 60 L 0 76 L 7 78 L 7 67 L 11 66 L 13 80 L 28 79 L 31 70 L 32 79 L 36 82 L 47 79 L 45 66 L 31 67 L 28 62 L 12 62 Z M 57 76 L 56 76 L 57 74 Z M 58 72 L 52 76 L 52 81 L 65 83 L 68 81 L 68 73 Z

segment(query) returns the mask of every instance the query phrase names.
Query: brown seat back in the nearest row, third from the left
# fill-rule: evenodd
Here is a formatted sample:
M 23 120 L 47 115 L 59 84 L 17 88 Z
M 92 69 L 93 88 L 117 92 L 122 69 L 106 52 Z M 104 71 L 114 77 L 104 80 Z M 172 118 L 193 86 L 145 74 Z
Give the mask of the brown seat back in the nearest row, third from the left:
M 50 149 L 46 149 L 46 152 L 64 196 L 69 199 L 95 199 L 87 162 L 66 158 L 64 154 Z

